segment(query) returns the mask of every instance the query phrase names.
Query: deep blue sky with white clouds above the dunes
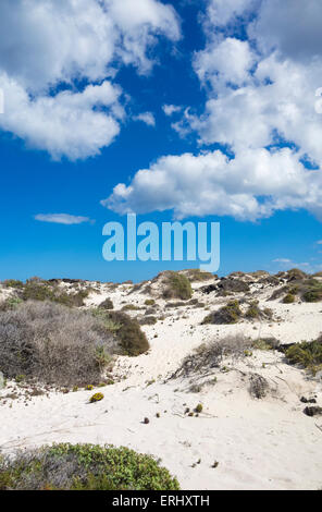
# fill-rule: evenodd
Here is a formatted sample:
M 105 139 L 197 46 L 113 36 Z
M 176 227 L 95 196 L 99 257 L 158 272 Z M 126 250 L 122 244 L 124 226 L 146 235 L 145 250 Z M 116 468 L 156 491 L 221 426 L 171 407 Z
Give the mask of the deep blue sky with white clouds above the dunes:
M 221 222 L 221 275 L 322 270 L 321 2 L 36 3 L 0 5 L 0 279 L 198 266 L 104 261 L 126 211 Z

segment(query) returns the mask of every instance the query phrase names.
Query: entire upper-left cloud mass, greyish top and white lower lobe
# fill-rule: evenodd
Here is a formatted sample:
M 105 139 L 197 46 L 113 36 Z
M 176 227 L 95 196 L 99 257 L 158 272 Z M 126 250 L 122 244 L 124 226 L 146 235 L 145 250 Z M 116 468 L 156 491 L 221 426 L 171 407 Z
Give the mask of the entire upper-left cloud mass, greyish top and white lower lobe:
M 149 72 L 160 35 L 175 41 L 179 26 L 173 8 L 158 0 L 16 0 L 14 9 L 2 0 L 0 129 L 53 158 L 98 154 L 123 114 L 111 80 L 121 65 Z M 81 81 L 96 87 L 75 92 Z M 70 90 L 52 93 L 62 85 Z

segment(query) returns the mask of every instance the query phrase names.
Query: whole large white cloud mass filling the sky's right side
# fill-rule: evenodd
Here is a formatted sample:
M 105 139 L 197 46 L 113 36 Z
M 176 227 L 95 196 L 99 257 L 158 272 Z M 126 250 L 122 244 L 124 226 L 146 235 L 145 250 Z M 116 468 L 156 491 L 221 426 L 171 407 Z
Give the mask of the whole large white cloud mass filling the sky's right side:
M 237 16 L 248 25 L 248 40 L 234 36 Z M 205 112 L 187 108 L 173 124 L 181 135 L 198 134 L 203 149 L 159 159 L 128 186 L 119 184 L 103 205 L 121 214 L 173 209 L 178 218 L 252 221 L 305 208 L 322 221 L 321 34 L 301 40 L 310 29 L 315 34 L 321 17 L 320 0 L 210 1 L 207 44 L 194 57 L 207 86 Z M 293 47 L 296 35 L 302 54 Z M 207 150 L 211 144 L 232 157 Z

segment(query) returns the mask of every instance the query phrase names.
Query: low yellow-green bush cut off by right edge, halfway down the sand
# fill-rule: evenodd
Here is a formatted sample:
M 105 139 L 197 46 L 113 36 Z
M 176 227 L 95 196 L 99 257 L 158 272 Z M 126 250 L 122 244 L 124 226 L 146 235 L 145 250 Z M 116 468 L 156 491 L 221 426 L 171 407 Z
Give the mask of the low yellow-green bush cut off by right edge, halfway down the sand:
M 296 343 L 285 352 L 290 364 L 297 364 L 313 375 L 322 369 L 322 337 L 315 341 Z

